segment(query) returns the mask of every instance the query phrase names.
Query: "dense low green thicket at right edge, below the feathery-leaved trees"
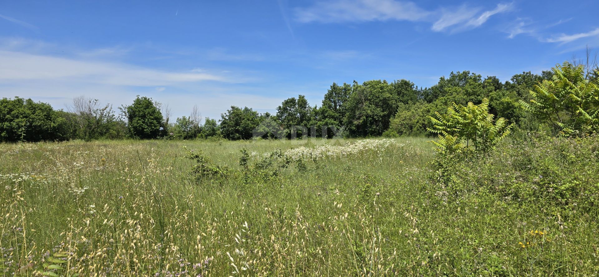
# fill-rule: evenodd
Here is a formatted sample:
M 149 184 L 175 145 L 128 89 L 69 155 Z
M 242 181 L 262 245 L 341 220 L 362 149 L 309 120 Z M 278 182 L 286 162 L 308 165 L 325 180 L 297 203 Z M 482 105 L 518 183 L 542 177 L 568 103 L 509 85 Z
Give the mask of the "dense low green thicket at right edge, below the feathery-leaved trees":
M 490 194 L 521 204 L 589 210 L 599 205 L 598 159 L 597 136 L 533 134 L 527 141 L 503 143 L 485 158 L 441 159 L 437 168 L 444 170 L 434 177 L 453 195 Z

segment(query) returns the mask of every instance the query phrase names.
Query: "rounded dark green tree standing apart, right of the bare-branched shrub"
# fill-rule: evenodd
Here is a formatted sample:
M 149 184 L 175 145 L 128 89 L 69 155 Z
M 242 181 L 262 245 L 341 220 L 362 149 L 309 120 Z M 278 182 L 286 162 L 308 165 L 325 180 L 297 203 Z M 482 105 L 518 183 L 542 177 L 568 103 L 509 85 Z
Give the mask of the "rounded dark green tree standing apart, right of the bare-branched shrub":
M 164 134 L 164 119 L 160 104 L 152 98 L 140 97 L 124 108 L 128 119 L 129 134 L 138 139 L 156 139 Z

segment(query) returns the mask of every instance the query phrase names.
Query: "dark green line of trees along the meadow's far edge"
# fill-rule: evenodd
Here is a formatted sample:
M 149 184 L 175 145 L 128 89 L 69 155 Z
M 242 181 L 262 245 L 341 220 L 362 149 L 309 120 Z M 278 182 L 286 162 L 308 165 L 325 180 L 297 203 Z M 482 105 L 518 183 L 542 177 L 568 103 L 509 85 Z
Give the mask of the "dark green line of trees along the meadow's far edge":
M 597 64 L 589 67 L 567 62 L 563 67 L 578 69 L 584 82 L 597 82 Z M 304 95 L 298 95 L 284 100 L 274 115 L 231 106 L 218 121 L 205 118 L 203 123 L 197 107 L 189 116 L 172 122 L 168 106 L 140 96 L 117 109 L 99 100 L 77 97 L 66 110 L 55 110 L 50 104 L 31 99 L 2 98 L 0 141 L 215 137 L 242 140 L 252 139 L 256 128 L 265 121 L 274 122 L 285 137 L 295 133 L 298 137 L 431 136 L 431 115 L 444 113 L 453 104 L 480 104 L 483 100 L 492 115 L 507 119 L 518 128 L 538 129 L 543 124 L 539 116 L 530 113 L 527 103 L 542 96 L 543 89 L 550 89 L 544 88 L 543 82 L 552 80 L 554 74 L 555 70 L 540 75 L 528 71 L 501 82 L 495 76 L 483 78 L 470 71 L 458 71 L 441 77 L 429 88 L 418 88 L 405 79 L 333 83 L 320 106 L 310 106 Z M 556 116 L 559 118 L 559 113 Z M 273 136 L 268 130 L 262 133 L 263 137 Z

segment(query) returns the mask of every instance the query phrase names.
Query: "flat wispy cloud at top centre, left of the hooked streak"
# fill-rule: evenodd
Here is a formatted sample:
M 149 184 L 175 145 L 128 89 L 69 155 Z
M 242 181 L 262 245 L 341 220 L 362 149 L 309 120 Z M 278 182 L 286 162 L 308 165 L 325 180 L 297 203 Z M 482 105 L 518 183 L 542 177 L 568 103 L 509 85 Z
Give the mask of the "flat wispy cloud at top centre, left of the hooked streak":
M 335 0 L 317 2 L 312 7 L 297 8 L 299 22 L 367 22 L 384 20 L 423 20 L 430 12 L 413 2 L 395 0 Z

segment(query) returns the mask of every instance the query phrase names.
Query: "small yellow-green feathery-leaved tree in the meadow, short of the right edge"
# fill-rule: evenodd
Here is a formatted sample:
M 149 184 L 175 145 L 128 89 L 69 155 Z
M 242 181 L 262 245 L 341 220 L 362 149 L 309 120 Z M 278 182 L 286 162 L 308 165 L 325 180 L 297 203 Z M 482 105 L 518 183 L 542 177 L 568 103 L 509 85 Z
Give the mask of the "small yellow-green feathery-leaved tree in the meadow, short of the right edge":
M 486 154 L 495 145 L 508 136 L 513 124 L 508 125 L 505 118 L 489 113 L 489 100 L 483 98 L 480 105 L 472 102 L 467 106 L 453 103 L 444 114 L 435 112 L 429 117 L 431 127 L 428 131 L 438 135 L 438 141 L 432 141 L 442 153 L 455 153 L 474 147 L 476 152 Z

